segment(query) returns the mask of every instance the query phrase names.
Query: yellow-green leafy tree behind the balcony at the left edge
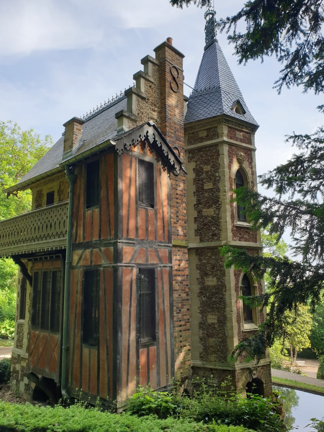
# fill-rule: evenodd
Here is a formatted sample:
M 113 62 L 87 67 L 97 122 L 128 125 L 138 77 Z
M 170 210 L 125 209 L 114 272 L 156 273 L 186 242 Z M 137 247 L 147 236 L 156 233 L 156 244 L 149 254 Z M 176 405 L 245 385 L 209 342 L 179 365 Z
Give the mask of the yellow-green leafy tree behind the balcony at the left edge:
M 0 121 L 0 187 L 6 189 L 18 181 L 45 154 L 52 144 L 50 136 L 41 139 L 32 129 L 23 131 L 13 122 Z M 31 194 L 20 191 L 18 196 L 0 193 L 0 220 L 30 209 Z M 0 323 L 14 320 L 18 266 L 12 259 L 0 258 Z

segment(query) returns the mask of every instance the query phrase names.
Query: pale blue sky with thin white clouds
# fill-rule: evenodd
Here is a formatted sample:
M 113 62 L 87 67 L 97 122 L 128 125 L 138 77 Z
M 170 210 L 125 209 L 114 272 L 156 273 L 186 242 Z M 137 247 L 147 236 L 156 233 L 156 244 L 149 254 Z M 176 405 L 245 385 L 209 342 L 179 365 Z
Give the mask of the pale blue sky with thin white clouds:
M 239 0 L 215 0 L 217 18 L 237 12 Z M 56 142 L 63 123 L 133 85 L 141 58 L 167 37 L 184 55 L 193 87 L 205 46 L 206 9 L 177 9 L 168 0 L 11 0 L 0 2 L 0 120 Z M 257 171 L 285 163 L 294 151 L 285 135 L 321 125 L 320 96 L 301 88 L 272 88 L 275 58 L 238 65 L 226 34 L 218 40 L 245 101 L 259 123 Z M 185 86 L 185 94 L 190 88 Z

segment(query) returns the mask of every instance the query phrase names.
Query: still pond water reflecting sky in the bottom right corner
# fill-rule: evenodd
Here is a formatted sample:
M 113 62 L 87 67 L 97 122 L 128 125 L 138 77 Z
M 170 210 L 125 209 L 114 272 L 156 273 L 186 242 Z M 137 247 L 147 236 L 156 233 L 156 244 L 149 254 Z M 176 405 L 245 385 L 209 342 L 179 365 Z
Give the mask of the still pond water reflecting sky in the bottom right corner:
M 305 426 L 311 423 L 311 418 L 324 417 L 324 396 L 279 386 L 273 386 L 273 390 L 280 391 L 281 397 L 285 398 L 286 426 L 294 430 L 298 428 L 298 430 L 313 432 L 315 430 L 313 427 Z

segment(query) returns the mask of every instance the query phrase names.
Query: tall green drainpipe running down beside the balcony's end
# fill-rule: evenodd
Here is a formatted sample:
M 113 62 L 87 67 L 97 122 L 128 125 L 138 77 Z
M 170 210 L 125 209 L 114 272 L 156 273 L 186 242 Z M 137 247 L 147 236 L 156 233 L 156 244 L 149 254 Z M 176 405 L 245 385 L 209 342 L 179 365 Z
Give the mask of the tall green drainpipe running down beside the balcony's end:
M 62 378 L 61 391 L 62 397 L 70 399 L 67 393 L 67 351 L 68 351 L 68 306 L 70 294 L 70 272 L 72 259 L 72 214 L 74 201 L 74 182 L 76 175 L 73 173 L 73 167 L 66 165 L 65 176 L 69 182 L 69 207 L 67 216 L 67 240 L 66 240 L 66 259 L 65 259 L 65 278 L 64 278 L 64 300 L 63 300 L 63 341 L 62 341 Z

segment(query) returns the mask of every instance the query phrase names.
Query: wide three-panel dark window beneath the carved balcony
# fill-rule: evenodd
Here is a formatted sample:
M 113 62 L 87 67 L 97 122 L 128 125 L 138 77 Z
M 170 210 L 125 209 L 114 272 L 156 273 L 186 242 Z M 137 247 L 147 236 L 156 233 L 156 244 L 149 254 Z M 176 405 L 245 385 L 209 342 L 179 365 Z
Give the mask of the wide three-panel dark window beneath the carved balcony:
M 61 270 L 34 271 L 31 327 L 60 330 Z

